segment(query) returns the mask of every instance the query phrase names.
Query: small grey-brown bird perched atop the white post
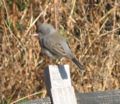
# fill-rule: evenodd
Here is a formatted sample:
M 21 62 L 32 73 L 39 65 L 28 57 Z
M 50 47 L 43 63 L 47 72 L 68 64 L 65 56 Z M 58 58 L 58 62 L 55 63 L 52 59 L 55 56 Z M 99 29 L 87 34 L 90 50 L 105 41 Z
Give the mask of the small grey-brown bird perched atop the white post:
M 36 22 L 36 33 L 34 34 L 39 40 L 41 53 L 51 59 L 69 58 L 80 69 L 84 70 L 83 65 L 77 60 L 72 53 L 66 39 L 48 23 Z

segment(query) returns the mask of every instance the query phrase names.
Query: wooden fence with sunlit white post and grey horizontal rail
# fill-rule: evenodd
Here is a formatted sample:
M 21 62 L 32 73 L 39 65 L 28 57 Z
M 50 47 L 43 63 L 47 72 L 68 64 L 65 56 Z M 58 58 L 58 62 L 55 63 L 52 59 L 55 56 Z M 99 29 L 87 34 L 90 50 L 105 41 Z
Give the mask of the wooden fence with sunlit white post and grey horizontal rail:
M 59 68 L 58 68 L 59 67 Z M 71 85 L 69 66 L 52 66 L 45 70 L 48 95 L 52 98 L 30 100 L 20 104 L 120 104 L 120 90 L 77 93 Z M 72 100 L 71 100 L 72 99 Z M 71 102 L 70 102 L 71 101 Z

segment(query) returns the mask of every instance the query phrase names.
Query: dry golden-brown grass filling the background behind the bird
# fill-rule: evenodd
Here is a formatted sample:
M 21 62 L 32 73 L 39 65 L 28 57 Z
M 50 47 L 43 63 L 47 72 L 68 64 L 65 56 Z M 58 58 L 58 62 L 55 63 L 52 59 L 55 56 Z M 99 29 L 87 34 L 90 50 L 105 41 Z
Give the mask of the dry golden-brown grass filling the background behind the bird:
M 43 70 L 48 58 L 39 56 L 31 35 L 35 21 L 53 24 L 68 39 L 86 67 L 84 76 L 71 63 L 73 86 L 81 92 L 120 88 L 119 0 L 1 0 L 0 99 L 10 103 L 45 97 Z M 40 65 L 36 67 L 40 61 Z M 39 92 L 40 93 L 37 93 Z M 33 95 L 33 96 L 29 96 Z

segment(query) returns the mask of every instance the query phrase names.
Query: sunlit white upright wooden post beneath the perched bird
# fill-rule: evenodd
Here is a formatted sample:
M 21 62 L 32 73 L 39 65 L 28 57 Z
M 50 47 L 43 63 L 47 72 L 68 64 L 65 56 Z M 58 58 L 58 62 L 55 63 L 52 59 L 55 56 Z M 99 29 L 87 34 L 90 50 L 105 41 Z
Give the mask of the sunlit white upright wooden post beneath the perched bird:
M 68 65 L 49 65 L 45 82 L 53 104 L 77 104 Z

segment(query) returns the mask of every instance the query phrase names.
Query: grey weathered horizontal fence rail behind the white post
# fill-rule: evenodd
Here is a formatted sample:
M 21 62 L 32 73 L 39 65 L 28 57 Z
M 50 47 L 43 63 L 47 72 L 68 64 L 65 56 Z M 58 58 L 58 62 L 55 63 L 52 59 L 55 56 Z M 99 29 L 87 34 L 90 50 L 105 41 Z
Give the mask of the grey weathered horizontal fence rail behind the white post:
M 120 104 L 120 90 L 77 93 L 77 104 Z M 30 100 L 20 104 L 52 104 L 50 98 Z M 69 104 L 69 103 L 67 103 Z

